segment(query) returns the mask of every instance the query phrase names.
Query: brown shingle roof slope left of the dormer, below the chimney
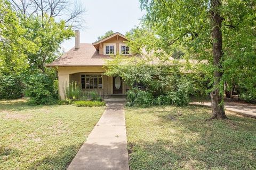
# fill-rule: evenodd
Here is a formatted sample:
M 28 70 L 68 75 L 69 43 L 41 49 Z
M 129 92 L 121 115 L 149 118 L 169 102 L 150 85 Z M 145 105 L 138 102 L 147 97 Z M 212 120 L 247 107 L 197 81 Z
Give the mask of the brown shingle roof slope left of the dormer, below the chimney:
M 59 59 L 46 66 L 103 66 L 104 59 L 110 59 L 110 56 L 100 55 L 92 44 L 81 43 L 80 48 L 71 48 Z

